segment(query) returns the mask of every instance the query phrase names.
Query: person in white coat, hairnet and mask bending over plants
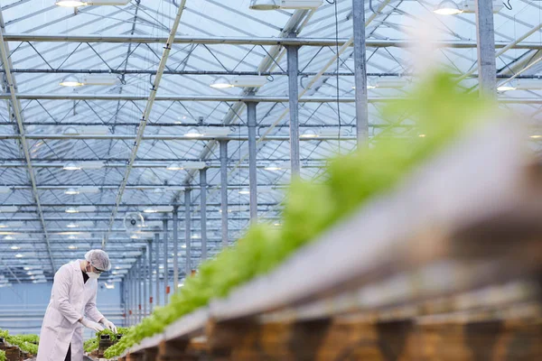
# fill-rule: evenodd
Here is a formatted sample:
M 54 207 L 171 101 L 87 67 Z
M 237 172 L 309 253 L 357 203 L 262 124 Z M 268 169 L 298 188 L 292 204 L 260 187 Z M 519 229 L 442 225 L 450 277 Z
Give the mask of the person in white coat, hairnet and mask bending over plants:
M 115 325 L 96 308 L 98 278 L 110 269 L 107 253 L 95 249 L 87 252 L 84 261 L 64 264 L 55 273 L 36 361 L 82 361 L 83 326 L 117 333 Z

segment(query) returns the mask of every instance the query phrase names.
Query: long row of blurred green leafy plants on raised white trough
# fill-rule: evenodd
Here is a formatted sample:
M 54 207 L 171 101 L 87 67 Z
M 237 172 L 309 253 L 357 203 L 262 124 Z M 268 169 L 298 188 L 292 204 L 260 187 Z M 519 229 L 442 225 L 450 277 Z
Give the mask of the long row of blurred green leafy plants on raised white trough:
M 416 165 L 465 131 L 466 126 L 487 116 L 491 107 L 490 101 L 460 91 L 447 74 L 427 79 L 410 97 L 391 103 L 384 112 L 389 122 L 407 116 L 425 137 L 415 134 L 405 140 L 382 136 L 373 148 L 365 147 L 330 162 L 323 184 L 294 180 L 280 230 L 261 224 L 250 227 L 235 247 L 201 264 L 199 273 L 184 282 L 167 306 L 154 310 L 109 347 L 105 356 L 121 355 L 211 299 L 226 297 L 238 285 L 272 271 L 366 201 L 396 187 Z

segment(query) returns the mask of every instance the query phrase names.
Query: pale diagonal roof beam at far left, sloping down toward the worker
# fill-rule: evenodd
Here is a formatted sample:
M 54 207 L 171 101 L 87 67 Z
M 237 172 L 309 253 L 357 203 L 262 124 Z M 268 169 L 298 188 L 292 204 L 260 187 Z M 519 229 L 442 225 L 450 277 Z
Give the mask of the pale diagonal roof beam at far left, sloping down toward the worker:
M 4 24 L 4 15 L 2 14 L 2 10 L 0 9 L 0 25 L 2 27 L 0 31 L 0 56 L 2 58 L 2 64 L 5 69 L 5 81 L 7 82 L 7 88 L 9 90 L 9 99 L 11 100 L 11 106 L 13 109 L 13 116 L 15 118 L 15 121 L 17 123 L 17 130 L 20 135 L 20 145 L 21 149 L 24 153 L 24 159 L 26 161 L 28 176 L 30 178 L 30 183 L 32 185 L 32 193 L 33 193 L 33 199 L 36 202 L 36 208 L 38 217 L 41 220 L 41 226 L 43 229 L 43 236 L 45 238 L 45 243 L 47 245 L 49 260 L 51 261 L 51 269 L 52 273 L 56 273 L 56 265 L 54 264 L 54 261 L 52 260 L 51 255 L 51 245 L 49 243 L 49 236 L 47 234 L 47 227 L 45 225 L 45 221 L 43 220 L 43 212 L 42 212 L 42 205 L 40 203 L 40 194 L 38 190 L 36 189 L 37 186 L 37 180 L 35 177 L 35 174 L 33 172 L 32 167 L 32 157 L 30 155 L 30 150 L 28 148 L 28 143 L 26 142 L 25 137 L 25 131 L 24 131 L 24 121 L 23 121 L 23 115 L 21 113 L 21 103 L 19 102 L 19 99 L 17 98 L 16 94 L 16 88 L 15 88 L 15 79 L 11 74 L 11 69 L 13 67 L 12 60 L 11 60 L 11 53 L 9 51 L 9 47 L 7 42 L 4 39 L 4 33 L 5 33 L 5 24 Z M 11 118 L 11 116 L 10 116 Z

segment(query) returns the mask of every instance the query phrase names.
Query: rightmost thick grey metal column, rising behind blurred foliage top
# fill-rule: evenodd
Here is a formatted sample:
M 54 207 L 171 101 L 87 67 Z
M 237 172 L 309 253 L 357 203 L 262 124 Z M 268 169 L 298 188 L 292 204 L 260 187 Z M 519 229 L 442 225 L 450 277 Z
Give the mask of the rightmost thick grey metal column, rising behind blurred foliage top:
M 476 37 L 478 39 L 478 82 L 480 94 L 496 96 L 495 32 L 493 2 L 475 0 Z

